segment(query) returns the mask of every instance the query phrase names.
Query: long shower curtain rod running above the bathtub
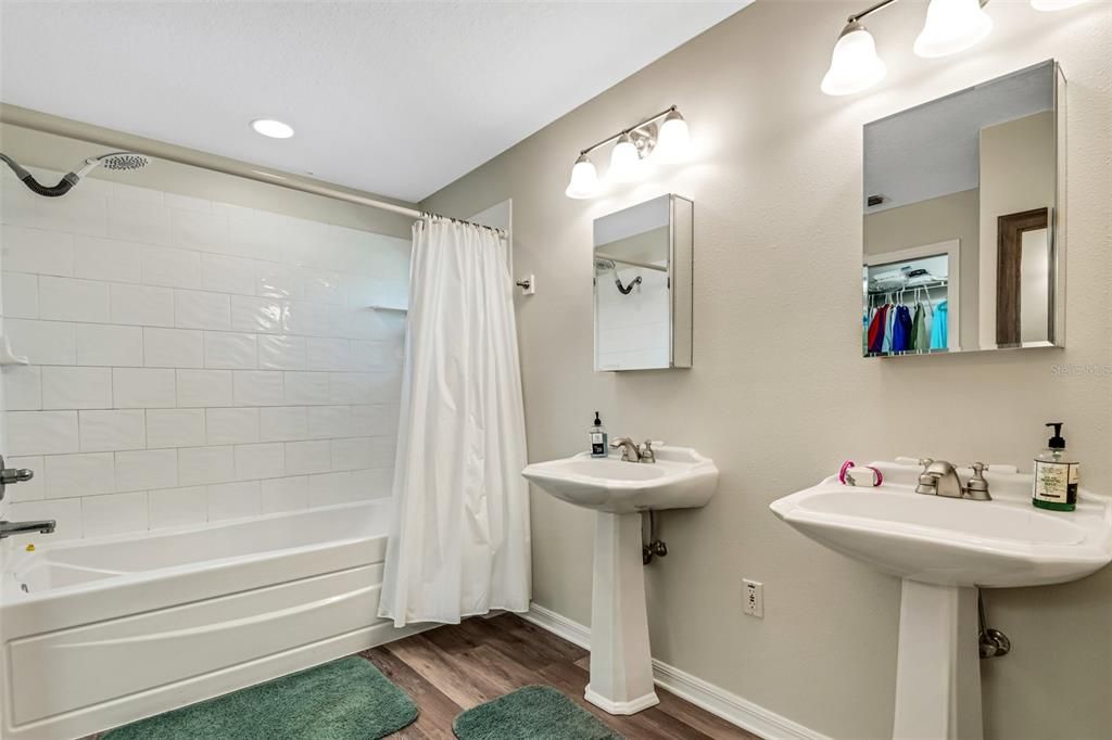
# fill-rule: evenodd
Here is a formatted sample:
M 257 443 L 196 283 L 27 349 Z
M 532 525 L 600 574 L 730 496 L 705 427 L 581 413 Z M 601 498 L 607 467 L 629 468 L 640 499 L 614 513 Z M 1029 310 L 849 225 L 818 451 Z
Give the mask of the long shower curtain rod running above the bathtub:
M 312 196 L 322 196 L 324 198 L 331 198 L 334 200 L 342 200 L 348 203 L 355 203 L 356 206 L 367 206 L 369 208 L 377 208 L 384 211 L 390 211 L 393 213 L 400 213 L 401 216 L 409 216 L 414 219 L 420 219 L 424 216 L 439 216 L 438 213 L 426 213 L 418 211 L 415 208 L 407 208 L 406 206 L 398 206 L 397 203 L 389 203 L 384 200 L 376 200 L 374 198 L 367 198 L 365 196 L 357 196 L 355 193 L 346 192 L 336 188 L 329 188 L 326 184 L 317 184 L 316 182 L 302 182 L 298 180 L 290 180 L 286 174 L 277 171 L 269 171 L 261 168 L 255 168 L 247 162 L 244 162 L 239 167 L 234 167 L 231 164 L 221 164 L 219 162 L 202 161 L 199 157 L 190 157 L 188 153 L 178 153 L 178 151 L 160 151 L 159 153 L 148 153 L 143 150 L 141 146 L 136 146 L 135 137 L 112 137 L 112 136 L 100 136 L 91 134 L 89 131 L 75 131 L 72 121 L 67 121 L 66 119 L 54 119 L 54 120 L 34 120 L 24 121 L 20 120 L 22 117 L 19 116 L 19 109 L 11 108 L 10 113 L 17 113 L 16 116 L 4 116 L 3 122 L 10 122 L 13 126 L 19 126 L 22 128 L 33 129 L 36 131 L 41 131 L 43 133 L 50 133 L 53 136 L 66 137 L 70 139 L 79 139 L 81 141 L 87 141 L 89 143 L 99 144 L 102 147 L 110 147 L 113 149 L 126 149 L 128 151 L 133 151 L 136 153 L 145 154 L 151 159 L 160 159 L 167 162 L 175 162 L 177 164 L 186 164 L 188 167 L 199 167 L 205 170 L 211 170 L 214 172 L 219 172 L 221 174 L 230 174 L 237 178 L 244 178 L 245 180 L 254 180 L 255 182 L 262 182 L 265 184 L 278 186 L 279 188 L 286 188 L 287 190 L 297 190 L 299 192 L 306 192 Z M 53 117 L 50 117 L 53 119 Z M 9 120 L 11 119 L 11 120 Z M 173 146 L 175 150 L 183 150 Z M 161 147 L 156 147 L 156 149 L 161 149 Z M 448 216 L 441 216 L 440 218 L 450 219 L 460 223 L 470 223 L 471 226 L 483 227 L 484 229 L 489 229 L 503 237 L 506 236 L 504 229 L 497 229 L 495 227 L 488 227 L 484 223 L 474 223 L 471 221 L 466 221 L 464 219 L 451 219 Z

